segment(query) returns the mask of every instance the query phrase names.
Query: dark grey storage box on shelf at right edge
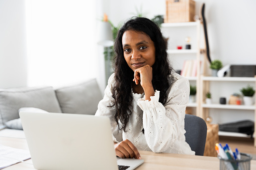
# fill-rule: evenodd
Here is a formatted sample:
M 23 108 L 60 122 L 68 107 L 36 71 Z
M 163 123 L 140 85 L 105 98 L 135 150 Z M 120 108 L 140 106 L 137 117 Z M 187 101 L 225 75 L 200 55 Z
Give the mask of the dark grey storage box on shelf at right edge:
M 256 65 L 231 65 L 231 77 L 254 77 L 256 75 Z

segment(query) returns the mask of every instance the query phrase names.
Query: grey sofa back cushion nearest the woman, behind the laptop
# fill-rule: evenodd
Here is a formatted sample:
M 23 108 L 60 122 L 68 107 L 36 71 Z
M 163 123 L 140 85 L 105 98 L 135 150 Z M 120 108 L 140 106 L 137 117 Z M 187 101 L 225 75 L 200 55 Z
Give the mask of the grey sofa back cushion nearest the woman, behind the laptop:
M 102 94 L 96 79 L 55 89 L 62 113 L 92 114 L 97 111 Z

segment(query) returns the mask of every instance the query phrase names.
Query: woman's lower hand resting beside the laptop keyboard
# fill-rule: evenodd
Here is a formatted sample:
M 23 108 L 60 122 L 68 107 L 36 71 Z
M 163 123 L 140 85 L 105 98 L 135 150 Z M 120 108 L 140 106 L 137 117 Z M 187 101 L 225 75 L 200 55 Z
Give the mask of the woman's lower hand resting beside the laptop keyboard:
M 128 139 L 114 143 L 114 146 L 119 157 L 141 159 L 138 149 Z

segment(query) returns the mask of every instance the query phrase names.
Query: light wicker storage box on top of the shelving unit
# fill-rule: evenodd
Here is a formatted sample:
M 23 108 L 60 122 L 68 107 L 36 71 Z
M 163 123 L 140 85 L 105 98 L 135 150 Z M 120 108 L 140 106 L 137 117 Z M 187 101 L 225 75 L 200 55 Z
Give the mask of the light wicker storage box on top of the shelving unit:
M 192 22 L 196 3 L 193 0 L 166 0 L 164 23 Z

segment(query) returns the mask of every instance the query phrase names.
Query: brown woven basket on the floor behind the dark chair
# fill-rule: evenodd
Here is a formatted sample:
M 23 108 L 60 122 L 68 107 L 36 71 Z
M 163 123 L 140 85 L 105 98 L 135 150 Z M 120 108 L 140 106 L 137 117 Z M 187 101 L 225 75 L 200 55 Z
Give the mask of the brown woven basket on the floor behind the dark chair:
M 218 132 L 219 132 L 218 124 L 207 124 L 207 136 L 206 136 L 204 156 L 217 157 L 215 144 L 219 142 Z

